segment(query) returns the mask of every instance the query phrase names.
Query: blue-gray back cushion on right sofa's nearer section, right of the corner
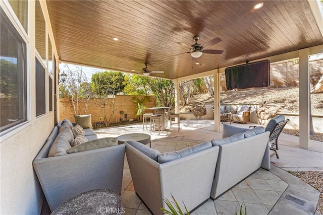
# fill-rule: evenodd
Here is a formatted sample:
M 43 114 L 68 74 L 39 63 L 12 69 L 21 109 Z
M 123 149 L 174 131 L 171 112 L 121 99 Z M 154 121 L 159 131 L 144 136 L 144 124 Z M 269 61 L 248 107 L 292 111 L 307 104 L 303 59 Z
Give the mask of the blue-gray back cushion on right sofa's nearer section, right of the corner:
M 173 161 L 197 152 L 200 152 L 202 150 L 206 150 L 212 147 L 211 142 L 204 142 L 203 144 L 199 144 L 193 147 L 185 148 L 182 150 L 179 150 L 177 152 L 167 152 L 158 155 L 158 163 L 163 164 L 169 161 Z

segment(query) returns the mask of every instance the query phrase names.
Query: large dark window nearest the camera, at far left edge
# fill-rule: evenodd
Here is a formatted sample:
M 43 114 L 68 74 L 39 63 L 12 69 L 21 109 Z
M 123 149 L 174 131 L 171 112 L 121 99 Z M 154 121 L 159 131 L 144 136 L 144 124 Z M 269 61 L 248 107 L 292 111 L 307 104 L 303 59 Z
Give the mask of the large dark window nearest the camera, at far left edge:
M 27 121 L 26 43 L 0 8 L 0 131 Z

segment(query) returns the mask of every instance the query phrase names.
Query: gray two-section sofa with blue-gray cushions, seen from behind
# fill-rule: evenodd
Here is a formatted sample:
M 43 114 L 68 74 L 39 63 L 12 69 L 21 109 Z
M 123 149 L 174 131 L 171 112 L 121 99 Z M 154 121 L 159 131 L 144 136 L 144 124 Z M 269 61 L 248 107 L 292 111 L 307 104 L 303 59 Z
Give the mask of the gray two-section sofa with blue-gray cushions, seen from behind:
M 164 200 L 172 200 L 172 195 L 181 208 L 185 204 L 192 211 L 260 167 L 269 170 L 268 136 L 262 127 L 224 124 L 222 139 L 163 154 L 128 141 L 126 156 L 135 191 L 153 214 L 163 214 L 159 208 L 168 209 Z

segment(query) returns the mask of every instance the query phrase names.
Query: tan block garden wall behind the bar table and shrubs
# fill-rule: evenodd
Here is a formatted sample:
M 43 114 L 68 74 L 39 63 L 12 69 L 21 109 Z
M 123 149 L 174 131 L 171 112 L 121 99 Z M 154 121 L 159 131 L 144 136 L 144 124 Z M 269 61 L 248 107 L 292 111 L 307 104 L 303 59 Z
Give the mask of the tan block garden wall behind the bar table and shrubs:
M 133 97 L 142 98 L 143 96 L 124 96 L 124 95 L 116 95 L 115 96 L 115 112 L 111 117 L 110 123 L 120 122 L 120 119 L 125 119 L 125 114 L 128 115 L 127 120 L 134 119 L 137 120 L 135 117 L 136 110 L 137 110 L 137 103 L 133 101 Z M 113 99 L 108 100 L 109 103 L 105 106 L 105 114 L 107 120 L 109 120 L 111 113 L 112 113 L 112 106 L 113 106 Z M 75 121 L 74 115 L 84 115 L 84 114 L 91 114 L 92 115 L 92 124 L 97 121 L 103 121 L 101 117 L 104 116 L 104 108 L 102 105 L 102 101 L 99 99 L 90 99 L 88 101 L 86 107 L 86 99 L 81 99 L 77 104 L 74 104 L 77 109 L 77 112 L 74 112 L 74 108 L 72 106 L 71 99 L 60 98 L 60 120 L 69 119 L 72 122 Z M 149 100 L 145 103 L 147 108 L 155 107 L 156 106 L 156 98 L 154 96 L 149 96 Z M 120 111 L 123 111 L 124 114 L 120 114 Z M 151 110 L 145 110 L 145 113 L 153 113 Z M 140 118 L 142 120 L 142 118 Z

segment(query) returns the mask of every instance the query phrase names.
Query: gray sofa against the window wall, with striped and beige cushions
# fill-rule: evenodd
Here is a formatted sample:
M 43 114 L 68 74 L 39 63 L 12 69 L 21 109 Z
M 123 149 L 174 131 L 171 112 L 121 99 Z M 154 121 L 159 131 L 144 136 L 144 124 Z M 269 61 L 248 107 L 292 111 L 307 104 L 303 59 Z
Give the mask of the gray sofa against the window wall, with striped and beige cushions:
M 116 138 L 98 139 L 91 128 L 84 128 L 90 141 L 71 147 L 76 139 L 71 126 L 69 120 L 55 126 L 33 161 L 51 211 L 88 190 L 107 188 L 121 193 L 125 145 L 118 145 Z

